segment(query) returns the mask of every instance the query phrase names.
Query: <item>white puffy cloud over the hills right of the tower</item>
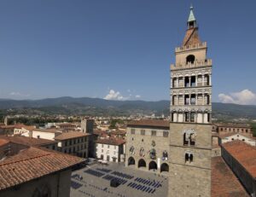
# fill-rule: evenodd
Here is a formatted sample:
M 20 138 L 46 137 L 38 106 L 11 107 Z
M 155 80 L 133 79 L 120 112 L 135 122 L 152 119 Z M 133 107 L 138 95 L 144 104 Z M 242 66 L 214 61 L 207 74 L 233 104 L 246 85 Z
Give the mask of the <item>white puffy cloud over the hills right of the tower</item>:
M 241 90 L 229 95 L 219 94 L 218 99 L 224 103 L 235 103 L 240 105 L 256 105 L 256 94 L 251 90 Z

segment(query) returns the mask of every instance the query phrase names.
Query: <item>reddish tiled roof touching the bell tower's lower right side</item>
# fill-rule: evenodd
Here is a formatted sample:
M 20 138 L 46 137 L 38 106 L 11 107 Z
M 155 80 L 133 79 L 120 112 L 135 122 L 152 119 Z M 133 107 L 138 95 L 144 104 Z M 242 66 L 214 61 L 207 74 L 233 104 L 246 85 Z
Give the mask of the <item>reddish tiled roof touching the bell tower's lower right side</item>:
M 212 158 L 212 197 L 248 197 L 222 157 Z

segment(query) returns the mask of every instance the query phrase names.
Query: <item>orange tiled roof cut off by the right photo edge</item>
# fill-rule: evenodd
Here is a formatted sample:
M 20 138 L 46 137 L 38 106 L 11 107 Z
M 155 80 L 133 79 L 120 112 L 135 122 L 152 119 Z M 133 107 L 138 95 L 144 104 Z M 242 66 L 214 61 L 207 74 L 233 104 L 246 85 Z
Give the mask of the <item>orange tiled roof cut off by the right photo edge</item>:
M 222 145 L 253 177 L 256 177 L 256 148 L 241 141 Z

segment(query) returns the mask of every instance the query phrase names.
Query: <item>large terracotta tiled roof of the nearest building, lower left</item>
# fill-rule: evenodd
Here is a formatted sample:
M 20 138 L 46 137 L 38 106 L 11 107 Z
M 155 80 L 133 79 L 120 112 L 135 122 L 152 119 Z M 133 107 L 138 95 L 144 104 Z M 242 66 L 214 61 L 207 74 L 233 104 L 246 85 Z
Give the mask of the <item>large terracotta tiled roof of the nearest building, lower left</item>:
M 0 190 L 70 168 L 83 160 L 44 148 L 27 148 L 0 161 Z

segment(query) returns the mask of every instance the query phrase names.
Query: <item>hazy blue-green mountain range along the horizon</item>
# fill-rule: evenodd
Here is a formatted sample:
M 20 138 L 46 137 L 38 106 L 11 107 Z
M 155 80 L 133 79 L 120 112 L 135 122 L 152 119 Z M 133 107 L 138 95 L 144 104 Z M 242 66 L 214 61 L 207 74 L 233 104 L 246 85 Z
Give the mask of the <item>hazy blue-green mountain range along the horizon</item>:
M 70 115 L 130 115 L 137 113 L 169 114 L 170 101 L 109 101 L 100 98 L 59 97 L 42 100 L 0 99 L 0 110 L 16 113 L 70 114 Z M 214 118 L 256 119 L 256 106 L 212 103 Z

